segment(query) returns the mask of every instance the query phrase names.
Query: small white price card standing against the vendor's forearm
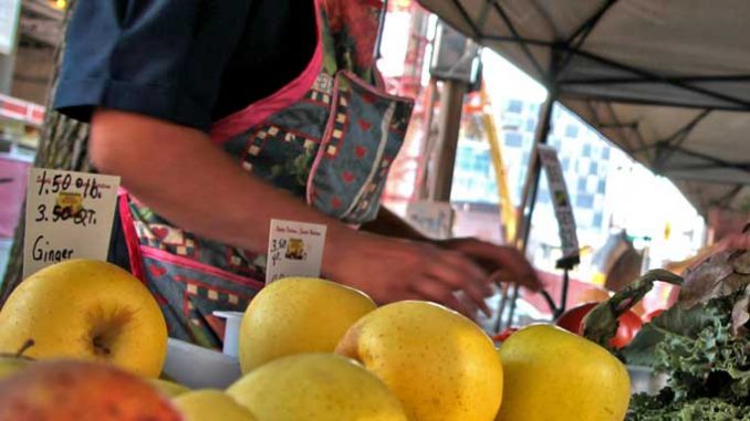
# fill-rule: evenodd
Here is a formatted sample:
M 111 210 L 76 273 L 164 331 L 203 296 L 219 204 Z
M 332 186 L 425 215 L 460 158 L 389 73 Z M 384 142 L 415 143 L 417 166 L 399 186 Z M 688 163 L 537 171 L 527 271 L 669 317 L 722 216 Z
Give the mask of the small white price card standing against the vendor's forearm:
M 325 225 L 271 220 L 265 283 L 288 276 L 321 275 Z

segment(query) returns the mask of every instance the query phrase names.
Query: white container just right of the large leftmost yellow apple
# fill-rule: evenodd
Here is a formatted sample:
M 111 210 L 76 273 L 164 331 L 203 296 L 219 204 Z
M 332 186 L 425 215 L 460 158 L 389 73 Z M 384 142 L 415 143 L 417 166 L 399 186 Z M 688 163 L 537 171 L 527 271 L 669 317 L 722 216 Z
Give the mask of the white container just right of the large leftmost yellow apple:
M 191 389 L 226 389 L 242 376 L 237 357 L 173 338 L 164 373 Z

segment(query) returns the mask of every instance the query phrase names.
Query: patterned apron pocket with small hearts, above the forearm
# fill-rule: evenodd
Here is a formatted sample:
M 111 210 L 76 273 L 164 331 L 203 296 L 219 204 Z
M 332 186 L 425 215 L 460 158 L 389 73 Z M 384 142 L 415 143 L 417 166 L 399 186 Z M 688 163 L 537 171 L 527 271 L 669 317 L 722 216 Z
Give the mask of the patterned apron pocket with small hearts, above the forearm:
M 338 72 L 331 115 L 308 179 L 308 203 L 347 223 L 375 219 L 412 107 L 408 98 Z

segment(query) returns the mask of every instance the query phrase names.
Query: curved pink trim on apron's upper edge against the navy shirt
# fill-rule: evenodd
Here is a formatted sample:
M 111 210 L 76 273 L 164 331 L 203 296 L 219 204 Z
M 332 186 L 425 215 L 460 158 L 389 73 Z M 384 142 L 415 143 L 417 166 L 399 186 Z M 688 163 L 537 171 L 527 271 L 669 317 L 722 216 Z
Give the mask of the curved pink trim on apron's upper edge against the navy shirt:
M 250 104 L 237 113 L 230 114 L 216 122 L 211 127 L 211 140 L 216 144 L 222 144 L 250 127 L 267 120 L 274 113 L 288 108 L 302 98 L 315 83 L 317 75 L 323 66 L 323 39 L 319 1 L 315 2 L 315 25 L 317 30 L 317 42 L 315 52 L 302 73 L 292 82 L 270 96 Z

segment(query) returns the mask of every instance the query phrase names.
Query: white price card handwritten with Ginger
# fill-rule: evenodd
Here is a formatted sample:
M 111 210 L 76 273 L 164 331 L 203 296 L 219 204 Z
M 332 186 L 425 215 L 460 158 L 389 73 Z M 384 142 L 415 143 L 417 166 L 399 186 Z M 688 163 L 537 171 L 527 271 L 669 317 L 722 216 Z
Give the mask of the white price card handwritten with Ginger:
M 104 261 L 119 177 L 31 168 L 23 276 L 71 259 Z

